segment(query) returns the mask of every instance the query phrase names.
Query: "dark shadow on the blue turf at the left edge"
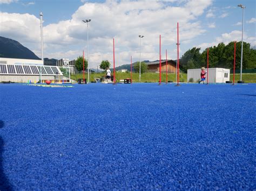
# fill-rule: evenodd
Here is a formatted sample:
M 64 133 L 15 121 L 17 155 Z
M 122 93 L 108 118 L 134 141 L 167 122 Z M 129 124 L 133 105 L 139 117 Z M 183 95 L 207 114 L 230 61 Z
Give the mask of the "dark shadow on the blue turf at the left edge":
M 4 127 L 4 122 L 0 120 L 0 129 Z M 4 152 L 4 140 L 0 136 L 0 190 L 12 190 L 11 184 L 8 178 L 4 174 L 3 168 L 3 152 Z

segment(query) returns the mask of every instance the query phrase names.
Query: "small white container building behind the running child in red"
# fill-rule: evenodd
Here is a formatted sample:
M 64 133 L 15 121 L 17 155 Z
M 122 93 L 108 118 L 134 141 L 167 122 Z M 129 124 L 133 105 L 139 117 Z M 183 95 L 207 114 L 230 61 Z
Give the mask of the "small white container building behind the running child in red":
M 205 68 L 207 72 L 207 68 Z M 187 82 L 198 82 L 201 77 L 201 68 L 187 70 Z M 207 82 L 207 74 L 205 75 Z M 226 83 L 230 81 L 230 69 L 225 68 L 209 68 L 208 69 L 208 83 Z

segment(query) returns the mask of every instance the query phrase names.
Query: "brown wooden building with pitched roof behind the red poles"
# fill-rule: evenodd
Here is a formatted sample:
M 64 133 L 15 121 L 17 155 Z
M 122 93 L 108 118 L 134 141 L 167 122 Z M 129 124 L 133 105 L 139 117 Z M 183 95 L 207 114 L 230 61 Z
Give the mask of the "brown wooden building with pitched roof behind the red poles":
M 159 60 L 147 62 L 147 70 L 149 72 L 160 72 Z M 161 72 L 166 72 L 166 60 L 161 60 Z M 176 73 L 176 61 L 167 60 L 167 72 Z

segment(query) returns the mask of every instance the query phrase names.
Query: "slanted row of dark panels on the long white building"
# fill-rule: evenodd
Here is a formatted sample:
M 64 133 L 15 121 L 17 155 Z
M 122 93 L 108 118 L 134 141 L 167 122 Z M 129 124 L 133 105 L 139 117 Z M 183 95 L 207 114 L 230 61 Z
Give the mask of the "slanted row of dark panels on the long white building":
M 40 72 L 41 71 L 41 72 Z M 6 65 L 0 64 L 0 74 L 11 75 L 63 75 L 57 66 Z

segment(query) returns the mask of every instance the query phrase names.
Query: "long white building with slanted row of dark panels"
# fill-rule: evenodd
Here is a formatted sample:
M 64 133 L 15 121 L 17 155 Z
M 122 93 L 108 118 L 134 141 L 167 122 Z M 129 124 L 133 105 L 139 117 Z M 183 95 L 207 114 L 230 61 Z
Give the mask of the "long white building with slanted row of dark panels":
M 0 58 L 0 82 L 38 82 L 40 79 L 60 80 L 63 74 L 57 66 L 44 66 L 42 60 Z

